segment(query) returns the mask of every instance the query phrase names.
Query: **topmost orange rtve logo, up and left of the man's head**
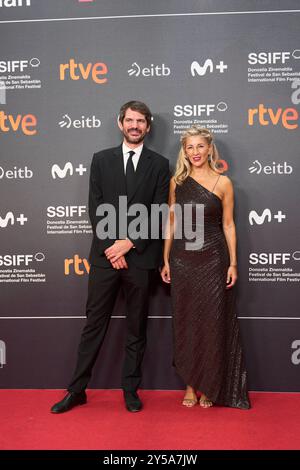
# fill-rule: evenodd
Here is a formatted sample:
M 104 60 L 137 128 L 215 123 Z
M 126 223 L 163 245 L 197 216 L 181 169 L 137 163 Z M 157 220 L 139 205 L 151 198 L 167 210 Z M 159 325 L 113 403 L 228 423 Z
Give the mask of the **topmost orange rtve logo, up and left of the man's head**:
M 86 66 L 81 62 L 78 64 L 75 62 L 75 59 L 70 59 L 67 64 L 60 64 L 59 66 L 59 79 L 60 80 L 88 80 L 89 78 L 99 84 L 107 82 L 108 68 L 104 62 L 97 62 L 92 64 L 89 62 Z

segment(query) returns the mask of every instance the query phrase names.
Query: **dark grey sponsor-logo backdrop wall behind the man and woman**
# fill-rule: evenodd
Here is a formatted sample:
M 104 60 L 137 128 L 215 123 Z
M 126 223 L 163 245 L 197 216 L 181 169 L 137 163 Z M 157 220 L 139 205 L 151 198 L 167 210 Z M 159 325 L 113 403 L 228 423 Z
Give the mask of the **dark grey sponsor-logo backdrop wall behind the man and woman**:
M 1 387 L 68 383 L 85 320 L 91 158 L 121 142 L 119 108 L 138 99 L 154 115 L 147 145 L 172 168 L 185 129 L 213 131 L 235 187 L 250 388 L 300 391 L 297 7 L 0 0 Z M 125 331 L 120 295 L 91 387 L 120 387 Z M 183 387 L 158 275 L 142 386 Z

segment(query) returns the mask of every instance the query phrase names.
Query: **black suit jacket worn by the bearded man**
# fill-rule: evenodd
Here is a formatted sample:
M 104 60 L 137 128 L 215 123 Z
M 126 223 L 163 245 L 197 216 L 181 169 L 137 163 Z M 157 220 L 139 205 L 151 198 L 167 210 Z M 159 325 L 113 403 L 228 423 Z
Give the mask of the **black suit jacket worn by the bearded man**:
M 144 204 L 150 216 L 151 204 L 167 203 L 169 181 L 169 161 L 144 145 L 136 169 L 135 187 L 131 194 L 127 195 L 122 145 L 94 154 L 89 188 L 89 216 L 94 233 L 89 257 L 91 264 L 110 267 L 111 263 L 106 259 L 104 251 L 115 240 L 125 238 L 120 237 L 119 233 L 119 196 L 127 196 L 128 208 L 135 203 Z M 99 239 L 96 233 L 98 222 L 105 217 L 105 215 L 96 215 L 100 204 L 111 204 L 116 210 L 116 234 L 105 240 Z M 162 261 L 161 239 L 151 240 L 150 236 L 148 239 L 133 239 L 130 233 L 128 238 L 135 245 L 135 248 L 125 255 L 128 263 L 132 262 L 142 269 L 154 269 L 160 265 Z

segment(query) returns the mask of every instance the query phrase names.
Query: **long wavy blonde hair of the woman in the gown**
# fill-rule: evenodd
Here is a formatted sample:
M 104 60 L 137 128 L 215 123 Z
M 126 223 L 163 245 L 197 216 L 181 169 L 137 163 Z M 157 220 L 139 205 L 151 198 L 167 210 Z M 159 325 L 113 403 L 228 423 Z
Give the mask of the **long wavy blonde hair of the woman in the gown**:
M 187 129 L 180 138 L 181 148 L 178 154 L 174 174 L 174 180 L 176 184 L 182 184 L 191 173 L 191 164 L 189 159 L 185 155 L 185 146 L 188 137 L 195 136 L 203 137 L 207 141 L 208 145 L 212 146 L 212 152 L 208 159 L 209 165 L 212 170 L 218 173 L 220 172 L 218 168 L 219 153 L 216 145 L 213 142 L 212 134 L 209 132 L 208 129 L 205 129 L 204 127 L 192 126 L 190 127 L 190 129 Z

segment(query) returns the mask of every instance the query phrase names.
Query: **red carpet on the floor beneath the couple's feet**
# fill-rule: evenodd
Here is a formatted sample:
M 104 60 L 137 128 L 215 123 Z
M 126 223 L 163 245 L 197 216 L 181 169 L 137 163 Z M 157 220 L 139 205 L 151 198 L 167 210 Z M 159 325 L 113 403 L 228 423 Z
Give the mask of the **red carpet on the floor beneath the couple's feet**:
M 181 406 L 181 391 L 141 391 L 129 413 L 118 390 L 89 390 L 88 403 L 49 413 L 61 390 L 0 390 L 0 449 L 300 449 L 300 393 L 251 393 L 248 411 Z

